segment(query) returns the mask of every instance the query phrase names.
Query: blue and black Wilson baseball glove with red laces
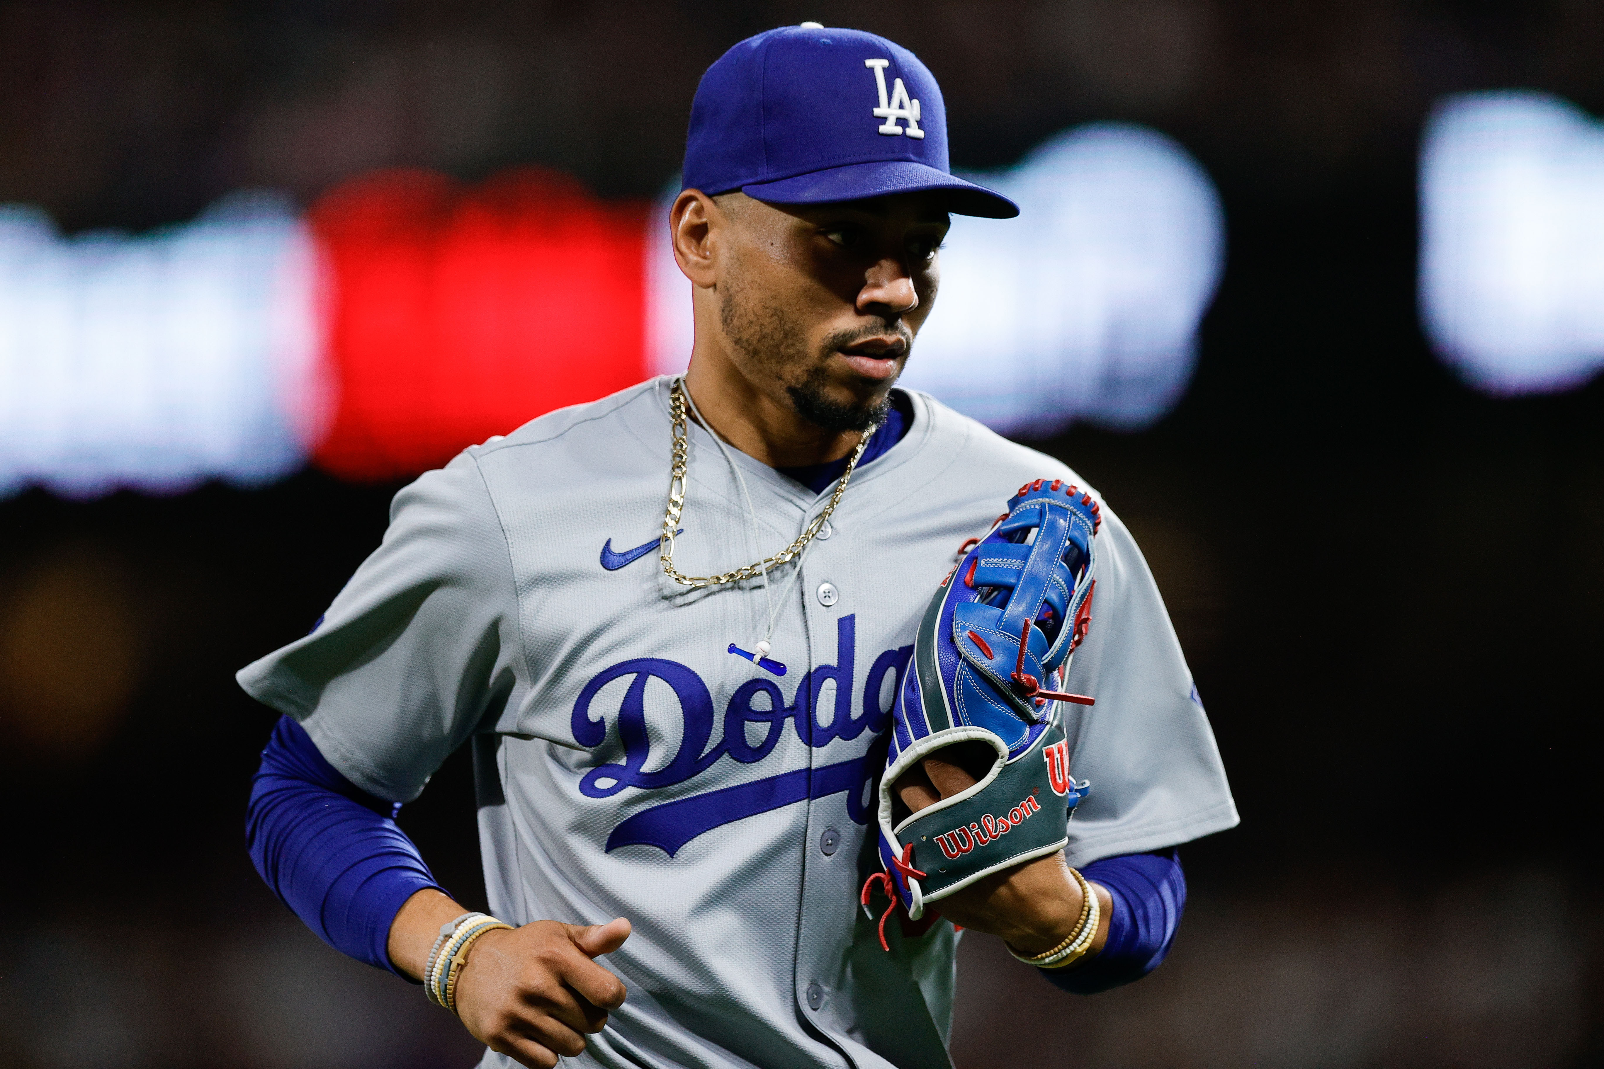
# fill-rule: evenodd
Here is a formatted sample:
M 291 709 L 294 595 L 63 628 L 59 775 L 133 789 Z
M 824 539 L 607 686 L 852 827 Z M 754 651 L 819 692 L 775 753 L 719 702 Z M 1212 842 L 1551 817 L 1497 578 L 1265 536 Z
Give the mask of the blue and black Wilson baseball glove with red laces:
M 1007 506 L 942 580 L 897 694 L 879 785 L 884 872 L 861 896 L 865 910 L 876 885 L 892 899 L 881 946 L 898 904 L 917 922 L 975 880 L 1062 849 L 1086 790 L 1070 776 L 1059 702 L 1092 699 L 1044 688 L 1060 686 L 1091 625 L 1102 510 L 1060 479 L 1022 486 Z M 990 771 L 908 816 L 898 777 L 958 742 L 988 745 Z

